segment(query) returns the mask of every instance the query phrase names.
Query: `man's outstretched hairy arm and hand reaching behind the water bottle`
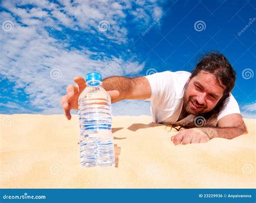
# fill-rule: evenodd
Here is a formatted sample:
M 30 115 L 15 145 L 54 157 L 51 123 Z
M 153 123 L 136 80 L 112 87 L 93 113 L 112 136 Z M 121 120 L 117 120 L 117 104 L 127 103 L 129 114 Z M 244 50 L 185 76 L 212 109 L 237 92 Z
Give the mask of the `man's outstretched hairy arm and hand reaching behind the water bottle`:
M 74 81 L 77 85 L 69 85 L 66 95 L 61 99 L 64 114 L 71 119 L 70 110 L 78 109 L 78 97 L 86 87 L 84 78 L 77 76 Z M 111 76 L 103 80 L 103 87 L 110 94 L 111 102 L 129 99 L 148 99 L 151 97 L 149 81 L 144 77 L 126 78 L 123 76 Z

